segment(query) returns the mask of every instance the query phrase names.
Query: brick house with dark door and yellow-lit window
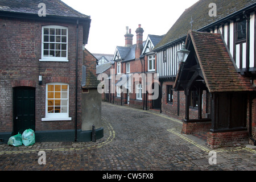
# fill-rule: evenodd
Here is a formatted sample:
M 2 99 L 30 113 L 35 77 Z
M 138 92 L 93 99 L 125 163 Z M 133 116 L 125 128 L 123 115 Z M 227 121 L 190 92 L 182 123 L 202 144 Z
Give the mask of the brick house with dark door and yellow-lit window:
M 0 1 L 0 142 L 29 128 L 36 142 L 86 141 L 93 124 L 102 137 L 101 110 L 82 117 L 97 89 L 84 49 L 90 21 L 59 0 Z

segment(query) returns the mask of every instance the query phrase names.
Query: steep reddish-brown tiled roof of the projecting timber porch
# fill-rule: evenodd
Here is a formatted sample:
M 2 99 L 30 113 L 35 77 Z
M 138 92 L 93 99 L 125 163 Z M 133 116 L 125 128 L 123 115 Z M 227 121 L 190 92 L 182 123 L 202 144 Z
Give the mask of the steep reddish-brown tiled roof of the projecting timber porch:
M 209 92 L 256 91 L 249 78 L 237 73 L 221 34 L 189 31 Z

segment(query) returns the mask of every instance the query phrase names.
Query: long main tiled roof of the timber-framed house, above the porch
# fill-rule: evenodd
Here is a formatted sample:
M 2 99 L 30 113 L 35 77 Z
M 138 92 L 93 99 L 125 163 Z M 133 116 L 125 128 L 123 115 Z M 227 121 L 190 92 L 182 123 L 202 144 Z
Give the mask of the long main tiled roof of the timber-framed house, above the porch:
M 209 16 L 210 3 L 216 3 L 217 16 Z M 188 30 L 191 30 L 191 18 L 193 19 L 192 30 L 201 31 L 201 28 L 252 5 L 256 5 L 255 0 L 200 0 L 184 11 L 154 49 L 163 48 L 176 40 L 185 38 Z

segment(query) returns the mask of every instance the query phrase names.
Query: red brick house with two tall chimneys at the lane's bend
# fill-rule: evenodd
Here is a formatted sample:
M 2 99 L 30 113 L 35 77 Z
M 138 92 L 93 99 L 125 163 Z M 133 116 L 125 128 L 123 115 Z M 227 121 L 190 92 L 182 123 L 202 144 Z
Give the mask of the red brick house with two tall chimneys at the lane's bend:
M 110 102 L 141 109 L 160 108 L 160 104 L 156 104 L 156 100 L 151 98 L 154 95 L 154 86 L 159 88 L 155 74 L 155 53 L 152 49 L 162 36 L 148 35 L 143 42 L 144 30 L 139 24 L 135 31 L 136 44 L 133 44 L 134 35 L 126 28 L 125 46 L 117 46 L 114 53 L 111 76 L 114 79 L 115 85 L 112 86 L 115 93 L 111 93 Z

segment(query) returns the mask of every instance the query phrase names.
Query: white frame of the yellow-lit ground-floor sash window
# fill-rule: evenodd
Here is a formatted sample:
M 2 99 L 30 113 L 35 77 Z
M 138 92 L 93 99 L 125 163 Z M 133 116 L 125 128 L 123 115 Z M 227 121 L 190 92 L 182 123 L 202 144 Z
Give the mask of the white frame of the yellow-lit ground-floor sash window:
M 67 92 L 60 90 L 61 93 L 67 93 L 67 98 L 48 98 L 48 86 L 49 85 L 67 85 Z M 52 92 L 52 91 L 50 91 Z M 53 90 L 53 93 L 59 92 Z M 54 94 L 55 95 L 55 94 Z M 48 113 L 48 100 L 66 100 L 67 101 L 67 113 Z M 55 104 L 53 104 L 53 107 Z M 42 121 L 70 121 L 72 118 L 69 117 L 69 84 L 61 83 L 61 82 L 50 82 L 46 84 L 46 115 L 45 118 L 42 118 Z M 60 109 L 61 109 L 61 103 L 60 103 Z

